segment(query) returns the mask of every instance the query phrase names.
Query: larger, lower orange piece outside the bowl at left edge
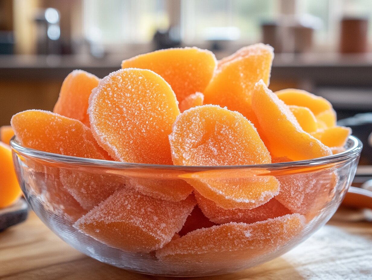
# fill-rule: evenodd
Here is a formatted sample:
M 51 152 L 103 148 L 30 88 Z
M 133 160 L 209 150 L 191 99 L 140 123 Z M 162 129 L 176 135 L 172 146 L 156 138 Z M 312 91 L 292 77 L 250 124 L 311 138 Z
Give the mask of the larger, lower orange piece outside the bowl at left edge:
M 14 171 L 12 149 L 0 142 L 0 208 L 12 205 L 20 196 L 21 189 Z

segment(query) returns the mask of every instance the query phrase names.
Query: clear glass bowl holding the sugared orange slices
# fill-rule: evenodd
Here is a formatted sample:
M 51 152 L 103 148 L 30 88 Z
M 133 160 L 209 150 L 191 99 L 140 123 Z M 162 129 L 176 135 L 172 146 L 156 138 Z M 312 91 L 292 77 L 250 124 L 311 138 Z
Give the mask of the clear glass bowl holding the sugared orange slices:
M 331 218 L 353 180 L 362 149 L 360 141 L 350 136 L 346 151 L 329 157 L 186 167 L 68 157 L 22 147 L 15 139 L 11 146 L 26 200 L 55 234 L 103 263 L 165 276 L 230 273 L 289 251 Z M 221 205 L 211 206 L 209 200 L 209 206 L 199 203 L 200 208 L 214 221 L 226 224 L 224 230 L 221 226 L 202 229 L 190 238 L 180 238 L 206 224 L 200 215 L 191 215 L 188 219 L 194 220 L 186 222 L 188 229 L 174 234 L 195 204 L 193 187 L 204 194 L 203 187 L 250 187 L 267 179 L 280 183 L 279 194 L 270 202 L 286 210 L 267 205 L 258 212 L 224 210 Z M 252 225 L 229 223 L 288 213 L 298 214 Z

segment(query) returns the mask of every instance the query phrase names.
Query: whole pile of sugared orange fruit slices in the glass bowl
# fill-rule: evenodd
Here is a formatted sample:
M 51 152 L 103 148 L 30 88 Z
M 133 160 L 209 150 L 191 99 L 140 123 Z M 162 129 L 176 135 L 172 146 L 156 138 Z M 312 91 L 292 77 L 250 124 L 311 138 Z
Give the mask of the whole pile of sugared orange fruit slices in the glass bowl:
M 17 113 L 12 128 L 29 148 L 158 165 L 118 171 L 126 181 L 62 168 L 51 174 L 51 195 L 65 200 L 84 234 L 163 261 L 257 256 L 301 234 L 329 199 L 333 171 L 210 168 L 163 180 L 172 170 L 161 165 L 257 165 L 343 151 L 351 131 L 336 125 L 327 100 L 269 90 L 273 57 L 264 44 L 219 61 L 208 50 L 173 48 L 124 60 L 103 79 L 75 70 L 53 112 Z

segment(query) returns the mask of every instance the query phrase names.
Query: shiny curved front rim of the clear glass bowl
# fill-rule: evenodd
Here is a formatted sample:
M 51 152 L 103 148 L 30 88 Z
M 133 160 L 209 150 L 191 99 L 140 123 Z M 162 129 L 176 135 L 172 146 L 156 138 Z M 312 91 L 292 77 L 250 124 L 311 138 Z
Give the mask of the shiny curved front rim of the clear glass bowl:
M 26 157 L 38 158 L 40 160 L 67 164 L 67 165 L 83 165 L 83 166 L 94 166 L 94 167 L 105 167 L 105 168 L 154 168 L 154 169 L 179 169 L 179 170 L 210 170 L 210 169 L 244 169 L 244 168 L 260 168 L 260 169 L 272 169 L 272 168 L 287 168 L 287 167 L 304 167 L 304 166 L 318 166 L 324 164 L 335 164 L 343 160 L 354 158 L 360 154 L 363 144 L 355 136 L 350 135 L 347 138 L 347 144 L 349 148 L 345 151 L 334 155 L 328 155 L 326 157 L 313 158 L 310 160 L 301 161 L 290 161 L 290 162 L 277 162 L 270 164 L 251 164 L 251 165 L 161 165 L 161 164 L 144 164 L 144 163 L 133 163 L 133 162 L 121 162 L 121 161 L 109 161 L 109 160 L 97 160 L 93 158 L 81 158 L 67 155 L 54 154 L 50 152 L 44 152 L 20 145 L 16 141 L 16 136 L 10 139 L 10 146 L 13 152 Z

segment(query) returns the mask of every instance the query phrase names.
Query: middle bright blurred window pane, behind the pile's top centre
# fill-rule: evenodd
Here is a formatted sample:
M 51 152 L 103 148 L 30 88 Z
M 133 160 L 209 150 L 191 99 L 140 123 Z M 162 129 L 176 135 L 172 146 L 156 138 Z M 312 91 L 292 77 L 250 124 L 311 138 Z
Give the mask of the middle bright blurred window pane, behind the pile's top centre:
M 260 23 L 275 17 L 277 4 L 276 0 L 183 0 L 183 37 L 186 42 L 213 36 L 257 40 Z

